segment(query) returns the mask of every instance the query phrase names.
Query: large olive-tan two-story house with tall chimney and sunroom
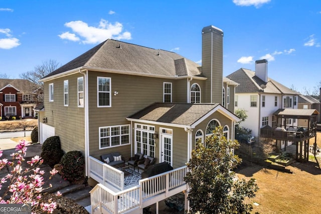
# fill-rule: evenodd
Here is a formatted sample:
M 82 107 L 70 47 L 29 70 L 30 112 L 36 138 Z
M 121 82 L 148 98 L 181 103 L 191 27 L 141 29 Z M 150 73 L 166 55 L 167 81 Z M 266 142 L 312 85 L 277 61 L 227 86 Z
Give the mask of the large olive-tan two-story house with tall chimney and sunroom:
M 107 153 L 128 160 L 140 152 L 155 163 L 186 167 L 196 140 L 204 142 L 219 125 L 234 139 L 239 121 L 233 114 L 238 84 L 223 77 L 223 31 L 203 28 L 202 49 L 200 66 L 170 51 L 102 42 L 41 79 L 40 142 L 59 136 L 65 152 L 83 152 L 86 175 L 111 189 L 93 172 Z

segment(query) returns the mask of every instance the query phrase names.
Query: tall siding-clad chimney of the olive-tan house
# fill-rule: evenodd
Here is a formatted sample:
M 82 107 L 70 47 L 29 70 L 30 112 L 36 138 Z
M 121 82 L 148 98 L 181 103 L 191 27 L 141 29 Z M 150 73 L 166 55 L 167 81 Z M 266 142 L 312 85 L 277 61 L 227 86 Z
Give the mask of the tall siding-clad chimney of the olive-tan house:
M 223 31 L 213 25 L 202 29 L 202 73 L 205 90 L 202 102 L 221 103 L 223 88 Z

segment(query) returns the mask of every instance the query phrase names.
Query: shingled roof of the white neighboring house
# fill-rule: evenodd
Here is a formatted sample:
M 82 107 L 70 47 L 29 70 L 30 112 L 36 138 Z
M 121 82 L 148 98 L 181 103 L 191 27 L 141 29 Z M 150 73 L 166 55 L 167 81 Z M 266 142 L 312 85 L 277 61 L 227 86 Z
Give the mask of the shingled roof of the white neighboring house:
M 261 85 L 265 85 L 265 93 L 300 94 L 271 78 L 267 78 L 267 82 L 264 82 L 255 75 L 254 71 L 245 68 L 241 68 L 226 77 L 240 84 L 235 88 L 237 93 L 263 92 Z

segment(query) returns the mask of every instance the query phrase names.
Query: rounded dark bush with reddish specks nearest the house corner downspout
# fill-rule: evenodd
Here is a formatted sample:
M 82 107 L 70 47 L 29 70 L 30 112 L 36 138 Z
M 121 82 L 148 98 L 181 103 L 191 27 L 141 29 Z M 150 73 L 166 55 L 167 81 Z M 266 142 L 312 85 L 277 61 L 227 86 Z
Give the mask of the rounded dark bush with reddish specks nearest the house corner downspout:
M 71 182 L 81 180 L 84 177 L 84 156 L 80 151 L 70 151 L 61 158 L 61 173 L 64 179 Z

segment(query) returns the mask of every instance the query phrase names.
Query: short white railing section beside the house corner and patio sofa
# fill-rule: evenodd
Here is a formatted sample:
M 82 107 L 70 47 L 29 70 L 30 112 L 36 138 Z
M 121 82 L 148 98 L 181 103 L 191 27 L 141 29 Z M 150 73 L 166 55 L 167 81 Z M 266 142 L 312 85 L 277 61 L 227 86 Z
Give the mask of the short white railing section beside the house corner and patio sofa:
M 120 190 L 124 189 L 124 172 L 97 160 L 88 157 L 89 176 L 104 186 L 112 185 Z

